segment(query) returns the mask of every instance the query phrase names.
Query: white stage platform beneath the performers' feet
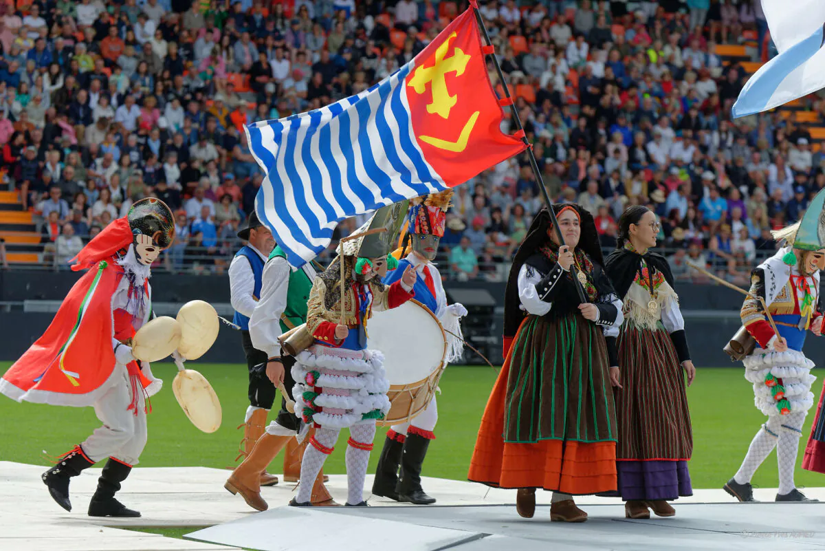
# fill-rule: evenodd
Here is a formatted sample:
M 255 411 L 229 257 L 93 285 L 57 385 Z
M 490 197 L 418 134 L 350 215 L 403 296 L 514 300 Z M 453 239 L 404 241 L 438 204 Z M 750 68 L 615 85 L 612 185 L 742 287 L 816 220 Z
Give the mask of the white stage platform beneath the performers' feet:
M 223 469 L 136 468 L 118 494 L 141 511 L 139 519 L 94 519 L 86 515 L 99 469 L 87 469 L 71 486 L 73 511 L 52 501 L 40 473 L 45 467 L 0 461 L 0 550 L 2 551 L 227 551 L 306 549 L 306 538 L 328 537 L 330 549 L 356 551 L 385 544 L 393 549 L 825 549 L 822 504 L 774 504 L 776 490 L 757 489 L 766 503 L 738 504 L 722 490 L 696 490 L 676 502 L 677 516 L 625 520 L 617 499 L 580 498 L 591 520 L 581 525 L 549 522 L 549 492 L 537 494 L 535 518 L 516 515 L 515 492 L 479 484 L 425 478 L 437 506 L 409 506 L 370 497 L 366 509 L 286 507 L 295 485 L 263 488 L 271 510 L 252 511 L 243 499 L 224 490 Z M 372 484 L 367 478 L 366 487 Z M 347 478 L 332 475 L 332 497 L 345 502 Z M 825 502 L 825 487 L 806 488 Z M 711 506 L 691 504 L 714 503 Z M 321 517 L 323 516 L 323 517 Z M 318 520 L 330 526 L 318 532 Z M 306 528 L 300 525 L 306 523 Z M 332 524 L 330 524 L 332 523 Z M 332 528 L 332 526 L 337 528 Z M 170 539 L 122 527 L 191 526 L 195 539 Z M 199 530 L 211 526 L 209 529 Z M 412 529 L 412 530 L 410 530 Z M 398 537 L 403 534 L 403 537 Z M 770 546 L 770 547 L 769 547 Z

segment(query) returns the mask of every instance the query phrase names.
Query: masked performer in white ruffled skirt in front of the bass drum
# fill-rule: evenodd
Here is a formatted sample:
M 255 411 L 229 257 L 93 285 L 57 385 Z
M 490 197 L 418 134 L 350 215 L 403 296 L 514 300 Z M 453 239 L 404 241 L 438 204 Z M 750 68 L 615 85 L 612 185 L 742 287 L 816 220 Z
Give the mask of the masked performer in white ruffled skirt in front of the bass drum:
M 381 257 L 364 258 L 359 256 L 360 248 L 360 239 L 343 243 L 342 254 L 318 275 L 309 294 L 307 329 L 315 341 L 295 358 L 292 393 L 295 413 L 305 423 L 314 424 L 316 431 L 304 452 L 298 494 L 291 506 L 310 505 L 312 481 L 332 453 L 338 433 L 347 427 L 350 439 L 345 505 L 366 505 L 364 481 L 375 438 L 375 420 L 383 418 L 390 406 L 383 356 L 366 349 L 367 320 L 372 310 L 395 308 L 412 298 L 416 275 L 408 266 L 400 280 L 383 285 L 375 278 L 385 270 L 382 264 L 386 252 Z

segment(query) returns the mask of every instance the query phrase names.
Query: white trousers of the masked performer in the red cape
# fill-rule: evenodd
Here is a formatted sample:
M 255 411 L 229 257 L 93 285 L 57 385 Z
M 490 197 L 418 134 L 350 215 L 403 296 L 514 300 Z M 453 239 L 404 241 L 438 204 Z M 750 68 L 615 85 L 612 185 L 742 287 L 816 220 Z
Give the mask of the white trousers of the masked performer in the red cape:
M 132 385 L 125 365 L 108 392 L 94 403 L 95 415 L 103 426 L 95 429 L 83 443 L 83 452 L 96 462 L 113 457 L 121 463 L 136 465 L 146 446 L 146 411 L 143 389 L 139 389 L 138 414 L 127 409 L 132 402 Z

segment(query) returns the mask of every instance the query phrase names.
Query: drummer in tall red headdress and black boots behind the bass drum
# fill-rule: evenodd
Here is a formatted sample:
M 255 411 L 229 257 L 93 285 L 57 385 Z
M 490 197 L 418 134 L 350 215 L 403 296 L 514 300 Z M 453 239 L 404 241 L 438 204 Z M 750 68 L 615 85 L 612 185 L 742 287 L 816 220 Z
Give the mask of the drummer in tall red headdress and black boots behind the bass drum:
M 459 320 L 467 314 L 467 309 L 458 303 L 447 305 L 447 297 L 441 285 L 441 274 L 432 262 L 438 252 L 438 243 L 444 236 L 446 212 L 450 208 L 452 194 L 451 190 L 446 190 L 427 195 L 426 200 L 419 198 L 417 204 L 410 207 L 408 233 L 413 250 L 398 262 L 397 269 L 384 277 L 384 283 L 391 284 L 399 280 L 404 271 L 412 266 L 417 274 L 416 283 L 413 285 L 413 298 L 429 308 L 447 331 L 460 335 Z M 407 247 L 403 247 L 403 252 L 406 250 Z M 464 343 L 449 333 L 447 339 L 450 348 L 446 361 L 459 360 Z M 424 411 L 412 421 L 394 425 L 387 431 L 384 449 L 381 450 L 375 470 L 375 482 L 372 486 L 374 495 L 415 505 L 436 502 L 436 499 L 428 496 L 421 486 L 424 457 L 427 455 L 430 440 L 436 438 L 433 432 L 436 421 L 438 408 L 436 397 L 433 395 Z

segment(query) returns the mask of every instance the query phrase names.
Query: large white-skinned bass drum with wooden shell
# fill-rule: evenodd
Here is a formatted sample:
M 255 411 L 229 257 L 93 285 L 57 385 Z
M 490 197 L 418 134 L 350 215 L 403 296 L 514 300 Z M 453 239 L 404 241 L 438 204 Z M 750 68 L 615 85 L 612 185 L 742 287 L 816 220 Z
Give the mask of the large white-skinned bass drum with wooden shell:
M 384 355 L 392 406 L 379 426 L 410 421 L 430 403 L 446 369 L 447 338 L 435 314 L 415 299 L 375 312 L 367 325 L 367 348 Z

